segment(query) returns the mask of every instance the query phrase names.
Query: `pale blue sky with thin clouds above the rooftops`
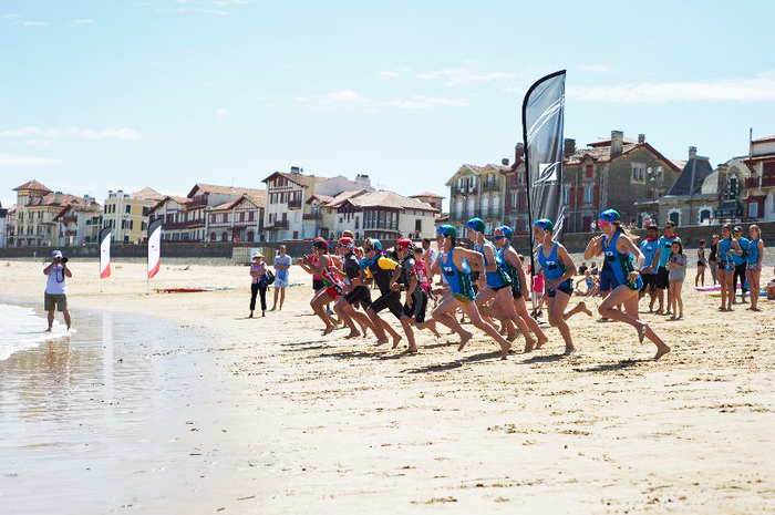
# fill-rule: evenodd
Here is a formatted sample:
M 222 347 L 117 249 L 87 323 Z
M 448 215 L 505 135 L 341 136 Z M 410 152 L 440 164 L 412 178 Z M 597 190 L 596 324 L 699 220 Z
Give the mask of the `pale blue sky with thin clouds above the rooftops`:
M 645 134 L 715 166 L 775 134 L 775 2 L 0 2 L 0 202 L 187 195 L 276 171 L 448 196 L 514 159 L 521 102 L 567 70 L 565 137 Z

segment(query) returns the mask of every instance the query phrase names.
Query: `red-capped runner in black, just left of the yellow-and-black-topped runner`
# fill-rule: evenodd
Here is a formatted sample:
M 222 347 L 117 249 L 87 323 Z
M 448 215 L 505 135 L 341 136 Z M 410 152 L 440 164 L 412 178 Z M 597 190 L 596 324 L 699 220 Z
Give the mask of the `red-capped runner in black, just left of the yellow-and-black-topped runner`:
M 371 306 L 371 295 L 369 287 L 360 281 L 361 267 L 353 253 L 354 243 L 352 238 L 343 236 L 339 239 L 339 253 L 342 259 L 342 275 L 347 279 L 344 296 L 337 300 L 333 310 L 339 317 L 344 320 L 344 323 L 350 328 L 350 334 L 344 338 L 356 338 L 361 333 L 352 323 L 354 320 L 361 327 L 363 337 L 366 336 L 366 328 L 371 327 L 371 320 L 364 312 L 356 311 L 355 308 L 361 307 L 364 311 Z M 373 328 L 372 328 L 373 331 Z

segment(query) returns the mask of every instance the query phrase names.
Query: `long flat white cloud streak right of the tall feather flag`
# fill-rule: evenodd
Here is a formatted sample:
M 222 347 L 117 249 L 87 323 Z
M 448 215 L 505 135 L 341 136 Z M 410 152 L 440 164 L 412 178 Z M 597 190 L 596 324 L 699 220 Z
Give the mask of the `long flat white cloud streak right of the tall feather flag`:
M 775 102 L 775 75 L 754 79 L 569 86 L 568 97 L 606 103 Z

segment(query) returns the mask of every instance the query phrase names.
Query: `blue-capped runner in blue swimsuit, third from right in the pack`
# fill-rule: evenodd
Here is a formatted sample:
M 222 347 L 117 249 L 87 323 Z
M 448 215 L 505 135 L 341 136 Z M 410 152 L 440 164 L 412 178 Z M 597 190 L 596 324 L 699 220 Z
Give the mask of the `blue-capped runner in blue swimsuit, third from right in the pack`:
M 525 277 L 523 261 L 510 245 L 513 234 L 512 228 L 507 225 L 496 227 L 495 246 L 499 249 L 498 258 L 500 259 L 500 267 L 504 272 L 512 278 L 512 305 L 519 318 L 525 322 L 525 326 L 527 326 L 538 340 L 536 342 L 527 332 L 523 332 L 526 340 L 525 352 L 530 352 L 534 346 L 535 349 L 540 349 L 549 339 L 544 334 L 538 322 L 527 312 L 526 302 L 530 298 L 530 291 L 527 288 L 527 278 Z

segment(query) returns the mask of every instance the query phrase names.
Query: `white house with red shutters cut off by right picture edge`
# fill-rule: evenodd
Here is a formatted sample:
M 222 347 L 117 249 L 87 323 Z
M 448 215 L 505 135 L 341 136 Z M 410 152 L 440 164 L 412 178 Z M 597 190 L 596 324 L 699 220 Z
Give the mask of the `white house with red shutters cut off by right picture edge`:
M 744 184 L 746 219 L 775 220 L 775 136 L 752 141 L 744 164 L 750 172 Z

